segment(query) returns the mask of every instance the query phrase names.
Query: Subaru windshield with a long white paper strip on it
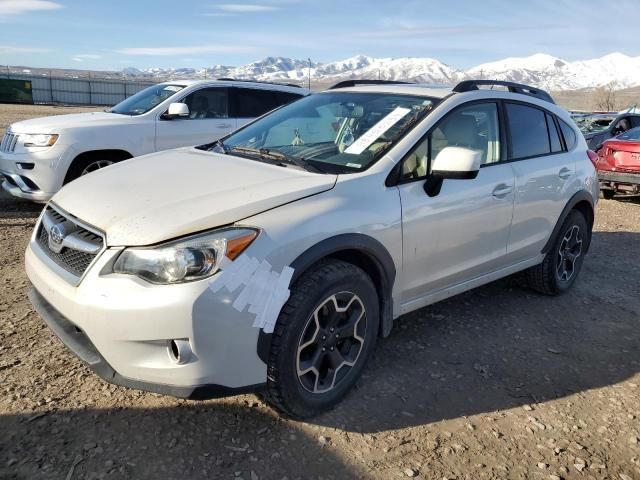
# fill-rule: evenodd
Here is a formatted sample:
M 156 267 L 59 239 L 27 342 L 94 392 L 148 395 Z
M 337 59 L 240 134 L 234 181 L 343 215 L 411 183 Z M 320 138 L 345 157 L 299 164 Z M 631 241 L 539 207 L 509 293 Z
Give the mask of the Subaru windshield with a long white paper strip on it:
M 437 101 L 389 93 L 311 95 L 231 134 L 224 139 L 224 152 L 263 160 L 277 156 L 321 172 L 357 172 L 380 158 Z

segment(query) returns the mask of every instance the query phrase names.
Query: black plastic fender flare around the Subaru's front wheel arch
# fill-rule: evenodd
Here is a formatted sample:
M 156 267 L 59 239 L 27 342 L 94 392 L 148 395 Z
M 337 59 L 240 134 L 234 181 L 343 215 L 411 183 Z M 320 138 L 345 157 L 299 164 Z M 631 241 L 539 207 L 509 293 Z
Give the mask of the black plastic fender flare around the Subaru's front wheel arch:
M 335 256 L 343 251 L 356 250 L 366 256 L 375 269 L 376 278 L 372 278 L 380 294 L 380 335 L 389 336 L 393 326 L 393 285 L 396 279 L 396 266 L 391 254 L 382 243 L 362 233 L 345 233 L 329 237 L 301 253 L 292 263 L 294 269 L 291 284 L 313 264 L 323 258 Z M 271 334 L 260 330 L 258 335 L 258 356 L 268 363 Z

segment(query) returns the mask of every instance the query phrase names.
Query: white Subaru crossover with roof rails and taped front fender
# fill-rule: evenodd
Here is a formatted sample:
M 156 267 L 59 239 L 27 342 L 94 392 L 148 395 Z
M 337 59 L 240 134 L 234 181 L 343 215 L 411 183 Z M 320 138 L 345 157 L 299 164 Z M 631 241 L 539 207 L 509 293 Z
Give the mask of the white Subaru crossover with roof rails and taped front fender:
M 36 310 L 109 382 L 306 417 L 405 313 L 519 271 L 574 284 L 598 179 L 565 110 L 505 82 L 363 83 L 65 186 L 26 252 Z

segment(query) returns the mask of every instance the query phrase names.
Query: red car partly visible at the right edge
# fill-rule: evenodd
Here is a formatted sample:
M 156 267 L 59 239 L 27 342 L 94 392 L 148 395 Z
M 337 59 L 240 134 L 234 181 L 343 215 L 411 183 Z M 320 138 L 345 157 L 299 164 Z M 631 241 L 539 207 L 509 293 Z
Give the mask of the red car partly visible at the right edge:
M 611 199 L 616 193 L 640 193 L 640 127 L 604 142 L 596 168 L 604 198 Z

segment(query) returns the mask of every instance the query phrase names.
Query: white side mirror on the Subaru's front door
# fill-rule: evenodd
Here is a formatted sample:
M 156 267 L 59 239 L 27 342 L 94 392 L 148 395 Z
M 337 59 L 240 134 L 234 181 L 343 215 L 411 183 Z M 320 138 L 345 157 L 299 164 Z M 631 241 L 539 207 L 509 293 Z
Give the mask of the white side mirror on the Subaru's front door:
M 463 147 L 445 147 L 433 161 L 424 191 L 430 197 L 435 197 L 440 193 L 445 179 L 472 180 L 478 176 L 481 164 L 482 152 Z

